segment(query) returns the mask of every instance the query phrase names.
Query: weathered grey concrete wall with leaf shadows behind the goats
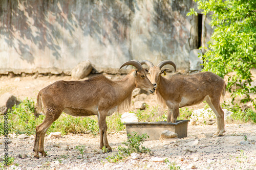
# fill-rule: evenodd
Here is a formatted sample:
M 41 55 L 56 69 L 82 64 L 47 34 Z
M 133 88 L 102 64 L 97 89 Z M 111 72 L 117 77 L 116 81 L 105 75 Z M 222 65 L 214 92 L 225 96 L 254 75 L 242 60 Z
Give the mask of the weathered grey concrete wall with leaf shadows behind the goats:
M 186 13 L 194 6 L 191 0 L 1 0 L 0 74 L 69 75 L 85 60 L 110 73 L 131 59 L 189 68 L 189 40 L 197 37 Z

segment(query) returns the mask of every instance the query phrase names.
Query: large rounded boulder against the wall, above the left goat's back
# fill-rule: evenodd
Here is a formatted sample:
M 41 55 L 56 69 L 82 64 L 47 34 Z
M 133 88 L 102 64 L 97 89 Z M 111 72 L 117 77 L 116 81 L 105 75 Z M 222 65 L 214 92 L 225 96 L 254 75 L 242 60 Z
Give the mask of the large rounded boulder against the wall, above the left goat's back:
M 83 79 L 92 71 L 93 67 L 89 60 L 83 61 L 75 66 L 71 71 L 71 76 L 74 79 Z

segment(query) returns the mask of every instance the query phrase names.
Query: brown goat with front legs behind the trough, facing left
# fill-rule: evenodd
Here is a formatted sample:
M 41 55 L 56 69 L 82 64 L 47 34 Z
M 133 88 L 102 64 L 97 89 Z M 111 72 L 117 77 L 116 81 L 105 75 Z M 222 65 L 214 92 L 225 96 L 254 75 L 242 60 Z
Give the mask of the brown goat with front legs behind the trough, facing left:
M 168 79 L 161 76 L 166 70 L 161 68 L 170 64 L 176 70 L 174 62 L 165 60 L 157 66 L 150 61 L 142 61 L 150 67 L 146 70 L 150 74 L 151 82 L 156 88 L 157 101 L 168 107 L 167 122 L 176 123 L 180 114 L 179 108 L 193 106 L 206 101 L 217 116 L 218 127 L 215 135 L 223 136 L 224 112 L 220 106 L 221 95 L 225 95 L 225 81 L 212 72 L 199 72 L 190 76 L 175 75 Z

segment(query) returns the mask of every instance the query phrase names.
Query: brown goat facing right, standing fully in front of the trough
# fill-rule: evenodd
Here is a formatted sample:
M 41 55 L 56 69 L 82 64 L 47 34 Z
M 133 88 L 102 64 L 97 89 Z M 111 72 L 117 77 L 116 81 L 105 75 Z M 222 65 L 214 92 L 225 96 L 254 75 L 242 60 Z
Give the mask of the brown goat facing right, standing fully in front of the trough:
M 125 62 L 120 69 L 125 65 L 133 65 L 136 69 L 120 81 L 111 81 L 100 75 L 85 81 L 57 81 L 39 91 L 38 110 L 41 110 L 43 104 L 46 108 L 46 117 L 36 127 L 34 157 L 39 158 L 38 152 L 42 156 L 47 155 L 44 151 L 45 134 L 62 112 L 72 116 L 97 115 L 99 148 L 105 146 L 109 151 L 112 150 L 106 138 L 106 116 L 129 107 L 135 88 L 142 88 L 151 93 L 155 91 L 138 61 Z

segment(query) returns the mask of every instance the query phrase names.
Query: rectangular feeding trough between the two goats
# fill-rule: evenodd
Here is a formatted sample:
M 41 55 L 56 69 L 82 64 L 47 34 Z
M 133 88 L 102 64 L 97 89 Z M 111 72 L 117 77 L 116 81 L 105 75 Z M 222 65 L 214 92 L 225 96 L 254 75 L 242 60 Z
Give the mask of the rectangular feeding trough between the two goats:
M 142 135 L 146 133 L 150 138 L 146 140 L 158 140 L 164 130 L 169 130 L 178 134 L 178 138 L 187 137 L 187 123 L 189 120 L 177 120 L 176 123 L 167 122 L 143 122 L 124 123 L 127 134 L 132 132 Z

